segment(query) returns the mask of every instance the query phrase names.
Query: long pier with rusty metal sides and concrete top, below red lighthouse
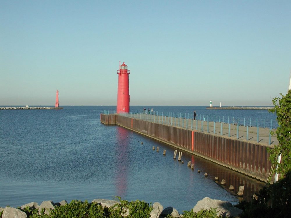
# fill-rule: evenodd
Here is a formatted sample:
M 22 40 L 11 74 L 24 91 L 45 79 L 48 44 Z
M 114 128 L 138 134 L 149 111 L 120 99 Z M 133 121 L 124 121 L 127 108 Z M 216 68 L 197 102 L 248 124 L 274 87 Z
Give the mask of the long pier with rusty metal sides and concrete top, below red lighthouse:
M 246 140 L 245 126 L 239 126 L 237 131 L 237 125 L 216 122 L 214 132 L 214 122 L 208 122 L 207 128 L 207 121 L 156 115 L 146 115 L 147 120 L 143 120 L 139 119 L 140 116 L 140 114 L 101 114 L 100 121 L 107 125 L 123 126 L 260 181 L 267 180 L 271 162 L 266 148 L 278 144 L 276 137 L 272 136 L 272 144 L 268 145 L 269 129 L 259 128 L 257 142 L 256 127 L 248 127 L 249 134 Z

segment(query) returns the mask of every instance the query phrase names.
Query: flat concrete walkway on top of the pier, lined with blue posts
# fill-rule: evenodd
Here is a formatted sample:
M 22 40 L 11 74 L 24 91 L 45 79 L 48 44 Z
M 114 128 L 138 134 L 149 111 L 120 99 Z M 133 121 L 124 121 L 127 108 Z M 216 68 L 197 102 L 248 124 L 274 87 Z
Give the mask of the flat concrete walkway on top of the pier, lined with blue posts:
M 216 135 L 224 138 L 231 138 L 239 141 L 261 144 L 270 147 L 273 147 L 275 144 L 278 145 L 276 134 L 271 135 L 269 128 L 228 124 L 222 121 L 213 122 L 213 121 L 193 120 L 186 118 L 151 115 L 143 113 L 142 114 L 121 113 L 120 116 L 141 119 L 168 126 L 175 126 L 178 128 L 187 129 L 191 131 L 203 132 L 205 134 Z M 276 129 L 273 129 L 272 131 L 275 132 Z

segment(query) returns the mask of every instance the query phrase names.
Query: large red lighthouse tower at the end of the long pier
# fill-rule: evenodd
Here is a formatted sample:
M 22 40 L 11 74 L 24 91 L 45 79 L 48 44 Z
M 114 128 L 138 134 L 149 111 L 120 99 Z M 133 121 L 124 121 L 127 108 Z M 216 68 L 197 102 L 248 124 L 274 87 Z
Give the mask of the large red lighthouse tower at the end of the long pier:
M 119 64 L 120 65 L 120 64 Z M 118 74 L 118 89 L 117 89 L 117 107 L 116 112 L 129 112 L 129 78 L 130 70 L 127 70 L 127 65 L 119 66 Z

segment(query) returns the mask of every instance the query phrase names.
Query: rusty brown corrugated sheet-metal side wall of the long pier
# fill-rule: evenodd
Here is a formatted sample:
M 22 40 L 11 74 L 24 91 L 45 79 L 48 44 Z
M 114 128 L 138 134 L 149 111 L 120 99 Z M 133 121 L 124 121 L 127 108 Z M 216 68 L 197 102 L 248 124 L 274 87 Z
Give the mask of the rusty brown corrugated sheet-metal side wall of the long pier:
M 267 181 L 271 168 L 267 146 L 116 114 L 101 114 L 100 121 L 123 126 L 252 178 Z

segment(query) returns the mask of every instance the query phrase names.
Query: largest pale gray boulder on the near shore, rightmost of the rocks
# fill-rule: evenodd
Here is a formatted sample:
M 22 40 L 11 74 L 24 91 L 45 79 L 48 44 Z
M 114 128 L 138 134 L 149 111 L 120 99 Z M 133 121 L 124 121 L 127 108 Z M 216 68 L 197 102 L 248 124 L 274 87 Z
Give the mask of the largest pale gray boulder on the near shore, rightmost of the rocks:
M 233 208 L 232 203 L 228 201 L 221 201 L 221 200 L 213 200 L 209 197 L 205 197 L 202 200 L 198 201 L 197 204 L 193 208 L 193 212 L 198 212 L 200 210 L 209 210 L 210 208 L 217 208 L 217 215 L 222 217 L 238 217 L 239 214 L 243 212 L 239 208 Z

